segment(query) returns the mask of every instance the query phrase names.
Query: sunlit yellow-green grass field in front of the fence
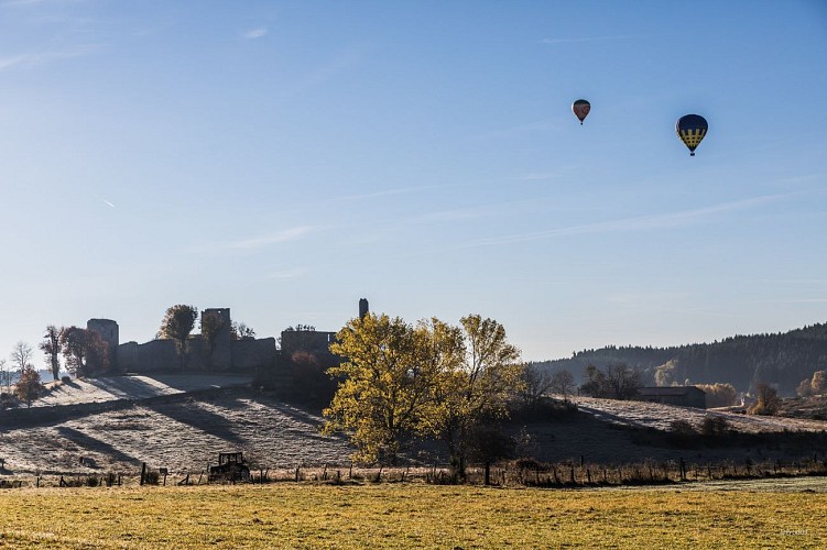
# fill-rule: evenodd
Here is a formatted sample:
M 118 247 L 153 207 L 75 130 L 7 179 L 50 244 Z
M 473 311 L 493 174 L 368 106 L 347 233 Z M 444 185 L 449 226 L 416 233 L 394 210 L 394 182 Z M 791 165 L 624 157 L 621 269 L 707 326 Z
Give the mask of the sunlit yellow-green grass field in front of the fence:
M 0 492 L 10 548 L 825 548 L 827 481 L 533 490 L 412 484 Z

